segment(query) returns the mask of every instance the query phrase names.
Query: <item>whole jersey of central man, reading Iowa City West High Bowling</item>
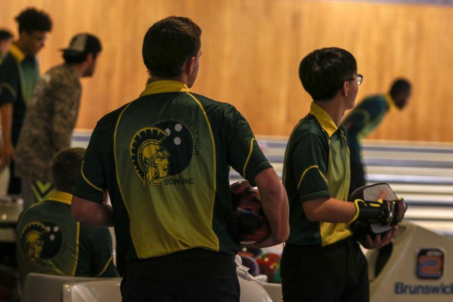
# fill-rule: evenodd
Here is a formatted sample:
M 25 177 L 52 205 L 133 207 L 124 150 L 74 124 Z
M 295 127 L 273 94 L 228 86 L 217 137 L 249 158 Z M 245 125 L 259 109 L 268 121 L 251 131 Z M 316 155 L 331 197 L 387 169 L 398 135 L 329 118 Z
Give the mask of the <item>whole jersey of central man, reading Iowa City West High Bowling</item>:
M 233 107 L 158 81 L 97 124 L 73 194 L 108 190 L 126 258 L 191 248 L 236 254 L 230 167 L 253 183 L 271 165 Z

